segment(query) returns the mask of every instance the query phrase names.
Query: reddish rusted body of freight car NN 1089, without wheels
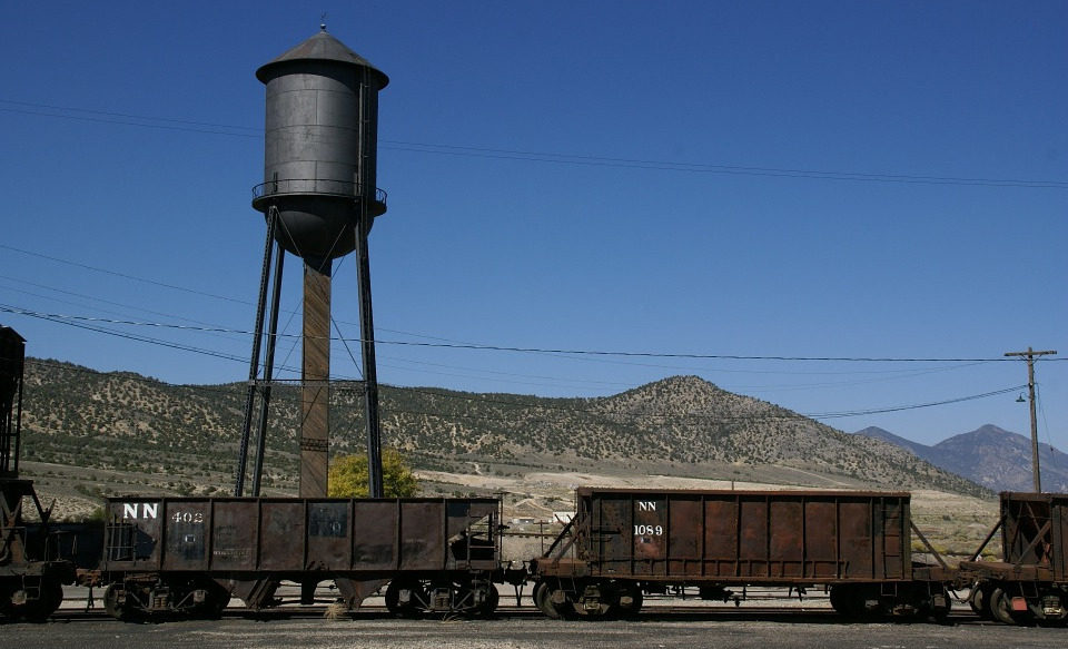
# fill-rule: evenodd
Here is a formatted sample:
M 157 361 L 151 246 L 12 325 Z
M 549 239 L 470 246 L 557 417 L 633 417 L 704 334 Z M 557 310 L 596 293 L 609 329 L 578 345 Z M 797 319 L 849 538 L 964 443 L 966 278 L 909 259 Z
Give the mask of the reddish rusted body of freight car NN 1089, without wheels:
M 582 488 L 541 574 L 688 583 L 911 579 L 909 494 Z

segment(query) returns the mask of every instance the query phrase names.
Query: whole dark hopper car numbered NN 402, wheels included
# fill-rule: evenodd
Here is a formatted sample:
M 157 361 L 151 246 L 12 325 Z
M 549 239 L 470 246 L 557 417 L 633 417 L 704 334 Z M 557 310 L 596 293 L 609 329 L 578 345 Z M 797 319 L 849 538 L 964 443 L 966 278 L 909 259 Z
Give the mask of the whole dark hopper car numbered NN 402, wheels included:
M 230 597 L 281 603 L 283 581 L 334 581 L 352 609 L 388 583 L 396 614 L 488 614 L 501 501 L 465 499 L 109 499 L 101 581 L 119 619 L 215 617 Z

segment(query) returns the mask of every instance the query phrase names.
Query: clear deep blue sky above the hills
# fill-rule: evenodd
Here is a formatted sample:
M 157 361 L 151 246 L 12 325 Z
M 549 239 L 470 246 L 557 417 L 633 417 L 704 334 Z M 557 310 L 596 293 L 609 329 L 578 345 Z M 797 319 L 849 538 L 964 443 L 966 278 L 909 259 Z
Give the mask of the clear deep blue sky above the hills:
M 1060 352 L 1039 434 L 1068 446 L 1068 4 L 320 4 L 7 6 L 0 323 L 30 354 L 247 376 L 254 73 L 325 11 L 390 78 L 383 383 L 602 396 L 696 374 L 933 443 L 1026 434 L 1002 354 L 1031 345 Z M 354 259 L 335 269 L 358 354 Z M 358 376 L 340 342 L 334 374 Z

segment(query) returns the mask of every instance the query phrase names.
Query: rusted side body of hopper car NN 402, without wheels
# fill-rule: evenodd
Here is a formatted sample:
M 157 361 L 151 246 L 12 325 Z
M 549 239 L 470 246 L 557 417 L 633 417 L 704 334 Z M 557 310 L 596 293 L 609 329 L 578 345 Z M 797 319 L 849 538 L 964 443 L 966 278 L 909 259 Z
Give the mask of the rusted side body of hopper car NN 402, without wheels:
M 492 570 L 498 517 L 496 499 L 111 499 L 101 568 L 301 580 Z

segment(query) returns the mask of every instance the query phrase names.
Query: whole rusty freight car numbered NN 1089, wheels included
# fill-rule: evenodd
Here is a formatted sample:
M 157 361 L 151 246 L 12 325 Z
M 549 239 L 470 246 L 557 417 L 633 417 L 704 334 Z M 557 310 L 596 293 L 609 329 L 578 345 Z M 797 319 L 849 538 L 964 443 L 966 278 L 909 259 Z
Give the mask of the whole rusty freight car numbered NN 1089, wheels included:
M 950 609 L 950 571 L 912 563 L 908 493 L 581 488 L 575 498 L 574 519 L 532 564 L 550 617 L 631 616 L 644 592 L 723 599 L 745 586 L 825 586 L 852 616 Z

